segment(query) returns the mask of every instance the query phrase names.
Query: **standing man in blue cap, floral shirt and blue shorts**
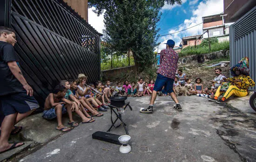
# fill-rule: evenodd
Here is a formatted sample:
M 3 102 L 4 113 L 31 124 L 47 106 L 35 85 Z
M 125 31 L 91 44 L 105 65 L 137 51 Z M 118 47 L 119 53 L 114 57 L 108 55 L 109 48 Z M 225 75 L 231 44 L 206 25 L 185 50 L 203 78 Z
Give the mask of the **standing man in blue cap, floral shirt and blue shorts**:
M 166 49 L 161 50 L 160 53 L 160 67 L 157 70 L 157 78 L 155 81 L 155 86 L 153 93 L 151 95 L 150 104 L 148 108 L 141 108 L 140 112 L 142 113 L 152 113 L 153 105 L 156 99 L 157 91 L 162 91 L 164 86 L 165 91 L 171 94 L 172 99 L 175 101 L 174 109 L 177 111 L 182 111 L 182 106 L 179 104 L 179 101 L 176 98 L 176 95 L 173 91 L 173 82 L 175 79 L 175 73 L 178 67 L 178 54 L 173 50 L 175 42 L 169 39 L 166 43 Z

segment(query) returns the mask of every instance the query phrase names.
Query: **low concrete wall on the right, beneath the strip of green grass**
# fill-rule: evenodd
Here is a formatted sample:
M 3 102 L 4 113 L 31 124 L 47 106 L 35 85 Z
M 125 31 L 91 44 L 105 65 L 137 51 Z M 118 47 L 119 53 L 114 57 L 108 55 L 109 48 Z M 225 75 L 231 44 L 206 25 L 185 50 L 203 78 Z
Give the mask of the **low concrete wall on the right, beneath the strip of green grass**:
M 208 54 L 181 57 L 179 58 L 178 67 L 180 68 L 185 66 L 191 66 L 197 63 L 204 63 L 210 60 L 215 60 L 217 58 L 223 58 L 228 56 L 229 56 L 229 50 L 228 51 L 221 50 L 221 51 L 216 51 Z

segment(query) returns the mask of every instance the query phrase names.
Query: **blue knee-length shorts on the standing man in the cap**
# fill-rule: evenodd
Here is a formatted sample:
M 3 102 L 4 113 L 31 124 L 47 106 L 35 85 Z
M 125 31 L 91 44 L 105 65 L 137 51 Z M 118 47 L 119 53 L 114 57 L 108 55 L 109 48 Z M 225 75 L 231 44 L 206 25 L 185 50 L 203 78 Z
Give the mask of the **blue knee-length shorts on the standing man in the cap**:
M 171 79 L 171 78 L 168 78 L 161 74 L 158 74 L 153 90 L 162 91 L 162 87 L 164 86 L 164 90 L 166 93 L 172 93 L 173 92 L 173 82 L 174 82 L 174 79 Z

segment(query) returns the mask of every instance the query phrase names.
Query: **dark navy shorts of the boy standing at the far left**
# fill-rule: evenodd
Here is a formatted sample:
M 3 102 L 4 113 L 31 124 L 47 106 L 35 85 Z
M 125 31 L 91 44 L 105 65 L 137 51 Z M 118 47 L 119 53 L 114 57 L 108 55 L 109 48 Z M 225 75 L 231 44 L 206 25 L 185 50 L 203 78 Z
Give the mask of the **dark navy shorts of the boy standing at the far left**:
M 0 108 L 4 116 L 13 113 L 26 113 L 39 107 L 33 96 L 28 96 L 27 91 L 0 96 Z

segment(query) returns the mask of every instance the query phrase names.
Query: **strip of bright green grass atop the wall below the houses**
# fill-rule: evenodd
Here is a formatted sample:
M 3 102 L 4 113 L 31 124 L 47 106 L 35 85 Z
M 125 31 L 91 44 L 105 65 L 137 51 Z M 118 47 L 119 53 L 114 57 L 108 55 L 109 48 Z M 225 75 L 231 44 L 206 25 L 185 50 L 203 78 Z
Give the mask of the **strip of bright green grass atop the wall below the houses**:
M 219 50 L 229 50 L 229 41 L 224 41 L 221 43 L 218 43 L 216 41 L 211 41 L 211 51 L 209 51 L 209 43 L 208 40 L 204 40 L 202 44 L 194 47 L 189 46 L 181 50 L 179 53 L 180 57 L 183 56 L 189 56 L 189 55 L 200 55 L 200 54 L 206 54 L 210 52 L 215 52 Z

